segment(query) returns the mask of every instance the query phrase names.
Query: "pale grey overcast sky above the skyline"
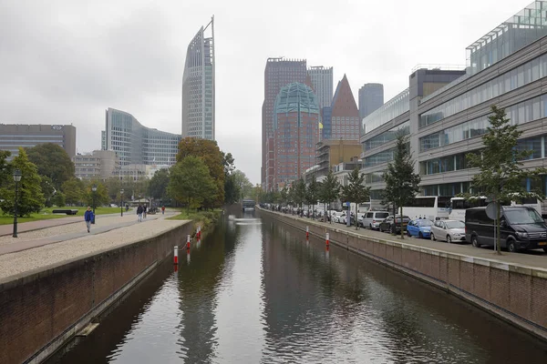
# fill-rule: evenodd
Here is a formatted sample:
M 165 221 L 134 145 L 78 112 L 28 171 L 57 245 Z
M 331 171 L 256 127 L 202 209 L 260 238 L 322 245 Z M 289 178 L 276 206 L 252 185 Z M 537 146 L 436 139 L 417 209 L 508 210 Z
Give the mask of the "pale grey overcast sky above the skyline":
M 0 0 L 0 123 L 73 124 L 100 148 L 105 109 L 181 133 L 186 47 L 215 15 L 216 137 L 260 183 L 268 57 L 347 75 L 354 96 L 408 87 L 418 64 L 465 65 L 466 46 L 531 0 Z

